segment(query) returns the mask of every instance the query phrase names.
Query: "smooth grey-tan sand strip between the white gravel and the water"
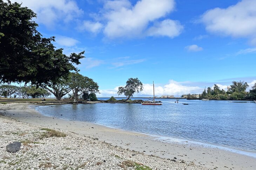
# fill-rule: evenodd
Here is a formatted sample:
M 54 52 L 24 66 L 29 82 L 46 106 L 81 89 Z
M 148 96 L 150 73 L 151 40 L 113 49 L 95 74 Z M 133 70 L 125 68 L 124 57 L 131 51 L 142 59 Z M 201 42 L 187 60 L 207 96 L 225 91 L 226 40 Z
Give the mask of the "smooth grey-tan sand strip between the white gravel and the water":
M 118 128 L 110 128 L 96 123 L 72 121 L 50 116 L 43 116 L 29 107 L 29 103 L 16 103 L 0 105 L 5 109 L 4 116 L 14 118 L 24 123 L 57 128 L 69 132 L 98 138 L 99 141 L 111 143 L 124 149 L 140 151 L 147 155 L 156 155 L 165 159 L 184 160 L 186 163 L 194 162 L 206 168 L 252 170 L 256 166 L 256 158 L 234 153 L 219 148 L 203 147 L 195 145 L 191 141 L 166 142 L 158 141 L 149 134 L 124 131 Z M 207 145 L 207 144 L 204 144 Z M 188 155 L 188 156 L 187 156 Z

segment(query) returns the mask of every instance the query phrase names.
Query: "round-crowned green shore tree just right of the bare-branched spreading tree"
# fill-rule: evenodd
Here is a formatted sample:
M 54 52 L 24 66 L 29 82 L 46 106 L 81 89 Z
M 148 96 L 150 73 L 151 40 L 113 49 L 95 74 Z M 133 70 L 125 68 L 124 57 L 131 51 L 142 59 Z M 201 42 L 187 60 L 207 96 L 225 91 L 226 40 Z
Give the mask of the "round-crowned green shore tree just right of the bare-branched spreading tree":
M 79 96 L 83 92 L 98 93 L 99 86 L 93 79 L 83 76 L 79 73 L 71 73 L 71 78 L 68 83 L 69 87 L 73 91 L 73 102 L 77 102 Z

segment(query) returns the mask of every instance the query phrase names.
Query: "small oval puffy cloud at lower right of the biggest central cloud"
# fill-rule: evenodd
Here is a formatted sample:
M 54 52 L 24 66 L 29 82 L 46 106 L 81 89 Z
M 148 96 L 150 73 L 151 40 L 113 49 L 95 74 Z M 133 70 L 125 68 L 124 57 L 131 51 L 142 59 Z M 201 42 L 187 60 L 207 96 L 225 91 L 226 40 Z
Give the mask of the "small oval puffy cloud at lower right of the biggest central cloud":
M 153 27 L 148 29 L 149 36 L 167 36 L 174 38 L 181 34 L 183 26 L 179 21 L 164 20 L 160 23 L 156 23 Z

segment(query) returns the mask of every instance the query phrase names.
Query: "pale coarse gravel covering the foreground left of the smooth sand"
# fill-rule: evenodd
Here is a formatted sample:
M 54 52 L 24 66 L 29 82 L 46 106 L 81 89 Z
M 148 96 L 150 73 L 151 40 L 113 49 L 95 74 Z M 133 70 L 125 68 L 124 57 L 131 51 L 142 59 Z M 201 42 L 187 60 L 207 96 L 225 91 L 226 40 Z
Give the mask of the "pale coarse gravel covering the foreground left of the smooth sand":
M 74 132 L 44 138 L 47 130 L 42 126 L 4 116 L 0 116 L 0 126 L 0 170 L 207 170 L 193 162 L 146 155 Z M 14 141 L 21 141 L 21 149 L 7 152 L 6 145 Z

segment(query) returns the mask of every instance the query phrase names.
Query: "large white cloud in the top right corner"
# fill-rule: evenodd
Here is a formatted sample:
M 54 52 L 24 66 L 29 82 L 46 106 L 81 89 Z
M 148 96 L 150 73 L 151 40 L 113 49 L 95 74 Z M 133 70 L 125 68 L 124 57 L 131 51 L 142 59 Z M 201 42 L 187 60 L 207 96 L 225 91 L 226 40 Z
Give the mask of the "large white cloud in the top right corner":
M 256 1 L 242 0 L 228 8 L 214 8 L 205 12 L 201 22 L 206 30 L 232 37 L 247 37 L 254 43 L 256 38 Z

